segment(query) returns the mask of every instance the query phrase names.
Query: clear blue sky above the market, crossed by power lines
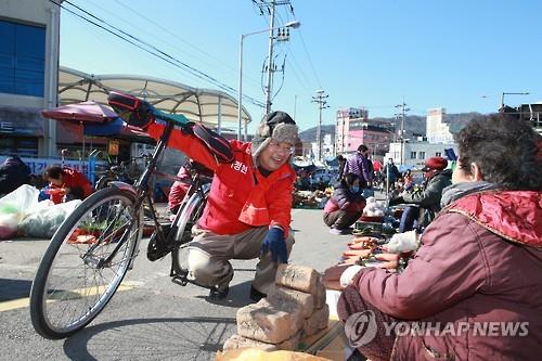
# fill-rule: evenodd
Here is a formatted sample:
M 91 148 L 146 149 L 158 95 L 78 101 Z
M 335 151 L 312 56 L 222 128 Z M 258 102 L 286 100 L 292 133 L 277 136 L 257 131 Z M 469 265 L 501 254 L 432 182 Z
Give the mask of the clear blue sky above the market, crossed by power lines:
M 237 88 L 238 38 L 268 27 L 250 0 L 69 0 L 93 15 Z M 301 27 L 279 44 L 286 54 L 284 85 L 273 109 L 294 113 L 299 127 L 318 123 L 311 96 L 330 95 L 323 124 L 335 111 L 365 106 L 370 117 L 392 116 L 404 102 L 410 114 L 443 106 L 449 113 L 498 108 L 542 100 L 542 14 L 538 0 L 292 0 L 295 16 L 279 7 L 276 22 Z M 65 3 L 68 9 L 74 9 Z M 142 16 L 144 17 L 142 17 Z M 146 17 L 146 18 L 145 18 Z M 266 34 L 244 41 L 244 93 L 263 102 L 260 79 Z M 134 74 L 193 87 L 212 85 L 146 54 L 62 11 L 61 65 L 91 74 Z M 274 90 L 281 75 L 274 78 Z M 234 92 L 232 95 L 236 98 Z M 487 98 L 481 98 L 487 95 Z M 295 102 L 295 100 L 297 100 Z M 262 108 L 244 101 L 255 125 Z

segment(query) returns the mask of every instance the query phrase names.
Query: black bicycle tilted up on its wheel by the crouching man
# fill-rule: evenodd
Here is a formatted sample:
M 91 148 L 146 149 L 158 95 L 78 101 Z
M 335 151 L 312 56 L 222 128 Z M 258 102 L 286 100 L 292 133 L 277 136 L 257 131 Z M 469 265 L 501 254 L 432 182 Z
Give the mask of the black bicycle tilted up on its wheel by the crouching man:
M 170 224 L 159 223 L 149 186 L 175 125 L 189 121 L 182 115 L 157 111 L 137 98 L 122 96 L 143 107 L 145 116 L 165 121 L 166 127 L 134 185 L 111 181 L 109 186 L 86 198 L 53 235 L 30 291 L 31 322 L 44 338 L 73 335 L 112 299 L 139 254 L 144 203 L 151 205 L 155 224 L 147 258 L 156 260 L 171 253 L 172 281 L 183 286 L 192 282 L 181 265 L 181 249 L 192 240 L 190 230 L 205 206 L 209 179 L 193 175 L 185 202 Z

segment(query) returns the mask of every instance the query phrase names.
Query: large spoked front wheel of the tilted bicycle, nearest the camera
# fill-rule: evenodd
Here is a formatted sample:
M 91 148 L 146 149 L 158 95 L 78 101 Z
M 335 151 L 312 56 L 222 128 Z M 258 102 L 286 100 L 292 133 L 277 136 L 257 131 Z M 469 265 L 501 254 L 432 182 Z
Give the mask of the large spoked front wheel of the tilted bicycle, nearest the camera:
M 131 192 L 105 188 L 61 224 L 30 289 L 30 318 L 38 334 L 49 339 L 68 337 L 111 300 L 142 236 L 141 212 L 134 202 Z M 112 261 L 104 262 L 116 247 Z

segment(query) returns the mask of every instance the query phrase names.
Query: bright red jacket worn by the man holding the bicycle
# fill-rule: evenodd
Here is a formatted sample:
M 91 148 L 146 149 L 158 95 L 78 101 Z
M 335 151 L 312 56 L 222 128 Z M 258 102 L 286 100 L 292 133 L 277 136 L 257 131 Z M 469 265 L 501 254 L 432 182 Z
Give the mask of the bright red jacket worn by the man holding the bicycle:
M 158 124 L 149 128 L 155 139 L 163 131 L 164 126 Z M 253 227 L 278 224 L 287 236 L 294 169 L 285 164 L 266 178 L 254 164 L 250 143 L 230 140 L 230 145 L 235 160 L 222 164 L 195 137 L 175 129 L 169 138 L 168 146 L 215 171 L 198 225 L 217 234 L 238 234 Z

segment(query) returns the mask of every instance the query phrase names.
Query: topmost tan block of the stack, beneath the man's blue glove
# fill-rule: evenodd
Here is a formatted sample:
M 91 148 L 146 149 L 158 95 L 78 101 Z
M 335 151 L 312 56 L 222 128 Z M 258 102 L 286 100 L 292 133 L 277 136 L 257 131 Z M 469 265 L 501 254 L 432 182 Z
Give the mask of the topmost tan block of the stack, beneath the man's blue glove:
M 320 274 L 310 267 L 280 265 L 276 270 L 275 283 L 314 295 L 319 276 Z

